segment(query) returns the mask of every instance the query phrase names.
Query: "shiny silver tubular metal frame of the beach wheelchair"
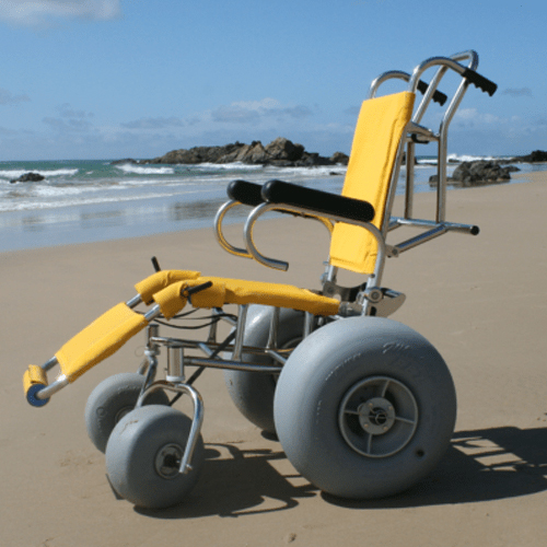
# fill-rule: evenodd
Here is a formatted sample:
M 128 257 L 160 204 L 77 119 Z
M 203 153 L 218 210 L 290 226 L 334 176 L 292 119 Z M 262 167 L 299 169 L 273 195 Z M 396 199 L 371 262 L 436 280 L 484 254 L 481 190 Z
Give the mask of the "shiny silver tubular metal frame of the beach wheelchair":
M 459 61 L 467 61 L 467 66 L 461 65 Z M 439 131 L 434 132 L 420 125 L 421 119 L 427 112 L 431 100 L 433 98 L 434 92 L 437 91 L 440 82 L 449 70 L 455 71 L 458 74 L 464 74 L 467 69 L 475 70 L 478 66 L 478 55 L 473 51 L 464 51 L 456 54 L 450 58 L 447 57 L 432 57 L 420 63 L 411 74 L 403 71 L 389 71 L 381 74 L 376 80 L 374 80 L 370 88 L 369 96 L 373 98 L 379 90 L 379 88 L 386 81 L 392 79 L 399 79 L 408 83 L 408 88 L 411 92 L 416 92 L 420 78 L 424 71 L 430 68 L 438 67 L 438 70 L 429 83 L 423 98 L 419 103 L 411 121 L 408 124 L 405 130 L 405 138 L 401 139 L 399 148 L 397 151 L 397 159 L 395 166 L 392 172 L 392 177 L 389 182 L 389 191 L 386 203 L 386 214 L 381 229 L 377 229 L 374 224 L 370 222 L 360 222 L 348 220 L 346 218 L 336 214 L 322 214 L 318 216 L 313 210 L 306 209 L 305 207 L 294 207 L 288 205 L 269 203 L 263 202 L 253 208 L 247 217 L 244 225 L 244 243 L 245 247 L 237 247 L 232 245 L 224 236 L 222 231 L 222 222 L 226 213 L 234 207 L 241 206 L 238 201 L 229 200 L 226 201 L 218 211 L 214 218 L 214 233 L 217 240 L 222 248 L 226 252 L 245 257 L 253 258 L 258 263 L 281 270 L 287 270 L 289 264 L 284 260 L 277 258 L 270 258 L 261 254 L 256 244 L 254 237 L 254 228 L 257 220 L 265 213 L 269 211 L 288 212 L 292 214 L 298 214 L 306 218 L 319 221 L 323 225 L 331 232 L 336 222 L 345 222 L 348 224 L 359 225 L 368 230 L 377 243 L 377 258 L 374 266 L 373 274 L 368 276 L 366 282 L 361 286 L 361 289 L 357 293 L 357 299 L 354 302 L 344 302 L 340 305 L 339 314 L 335 317 L 319 319 L 325 321 L 338 321 L 344 316 L 350 315 L 368 315 L 376 312 L 376 309 L 383 305 L 384 313 L 386 315 L 393 313 L 397 310 L 404 302 L 405 296 L 401 293 L 391 291 L 387 289 L 382 289 L 380 287 L 385 265 L 385 259 L 388 256 L 398 256 L 400 253 L 421 245 L 428 241 L 431 241 L 440 235 L 447 232 L 456 232 L 464 234 L 476 235 L 478 233 L 478 226 L 468 224 L 458 224 L 454 222 L 447 222 L 445 220 L 446 214 L 446 150 L 447 150 L 447 130 L 450 123 L 452 121 L 454 114 L 459 106 L 465 92 L 469 85 L 469 82 L 464 78 L 456 92 L 452 96 L 449 106 L 444 112 L 444 116 L 439 127 Z M 414 158 L 415 158 L 415 147 L 417 140 L 423 140 L 427 142 L 435 141 L 438 142 L 438 190 L 437 190 L 437 212 L 434 220 L 422 220 L 412 218 L 412 205 L 414 205 Z M 393 202 L 395 198 L 396 183 L 398 181 L 403 155 L 406 148 L 406 187 L 405 187 L 405 213 L 404 217 L 391 217 L 391 211 L 393 208 Z M 406 241 L 398 243 L 397 245 L 387 245 L 386 236 L 388 232 L 399 228 L 399 226 L 414 226 L 424 230 L 421 234 L 410 237 Z M 329 283 L 336 284 L 336 278 L 338 274 L 338 268 L 327 264 L 325 274 L 322 278 L 323 284 L 328 281 Z M 135 309 L 141 304 L 141 298 L 139 295 L 130 299 L 126 304 Z M 271 316 L 270 330 L 266 347 L 251 347 L 244 345 L 245 339 L 245 328 L 246 328 L 246 316 L 247 316 L 248 305 L 238 305 L 238 313 L 236 321 L 231 317 L 225 316 L 222 310 L 213 310 L 213 318 L 218 321 L 222 319 L 230 324 L 234 329 L 234 334 L 231 334 L 225 340 L 218 340 L 218 321 L 213 321 L 209 326 L 209 334 L 206 341 L 199 341 L 195 339 L 185 338 L 170 338 L 161 337 L 159 335 L 159 325 L 150 324 L 147 328 L 147 346 L 144 350 L 144 360 L 140 364 L 138 372 L 144 376 L 144 385 L 137 400 L 137 407 L 141 406 L 146 398 L 159 389 L 164 389 L 167 392 L 175 393 L 175 398 L 171 401 L 174 403 L 179 396 L 186 395 L 191 399 L 194 406 L 194 416 L 191 420 L 190 432 L 188 437 L 188 442 L 184 451 L 183 457 L 181 459 L 179 473 L 188 473 L 191 469 L 190 462 L 194 454 L 194 450 L 197 445 L 199 433 L 203 420 L 203 401 L 200 394 L 193 387 L 194 380 L 200 374 L 200 371 L 206 368 L 212 369 L 224 369 L 224 370 L 235 370 L 245 372 L 260 372 L 265 374 L 279 374 L 282 370 L 283 364 L 290 356 L 292 349 L 282 349 L 278 347 L 278 330 L 280 322 L 280 310 L 275 309 Z M 153 322 L 161 316 L 160 305 L 152 306 L 146 314 L 144 317 L 149 323 Z M 304 314 L 304 326 L 302 331 L 302 337 L 305 338 L 310 336 L 314 328 L 317 326 L 316 318 L 310 314 Z M 158 358 L 161 354 L 161 349 L 166 348 L 167 353 L 167 366 L 165 380 L 156 380 L 158 372 Z M 196 357 L 187 354 L 187 351 L 200 351 L 205 357 Z M 221 357 L 221 353 L 231 353 L 231 358 Z M 245 362 L 243 361 L 243 356 L 245 357 Z M 259 360 L 253 361 L 248 360 L 248 356 L 268 356 L 271 358 L 272 362 L 270 364 L 264 364 Z M 54 357 L 42 365 L 42 369 L 47 373 L 51 371 L 58 363 L 57 359 Z M 186 368 L 197 366 L 197 372 L 187 380 Z M 50 385 L 46 385 L 39 391 L 34 393 L 37 399 L 46 400 L 49 399 L 55 393 L 60 391 L 62 387 L 68 385 L 69 381 L 63 375 L 60 374 Z

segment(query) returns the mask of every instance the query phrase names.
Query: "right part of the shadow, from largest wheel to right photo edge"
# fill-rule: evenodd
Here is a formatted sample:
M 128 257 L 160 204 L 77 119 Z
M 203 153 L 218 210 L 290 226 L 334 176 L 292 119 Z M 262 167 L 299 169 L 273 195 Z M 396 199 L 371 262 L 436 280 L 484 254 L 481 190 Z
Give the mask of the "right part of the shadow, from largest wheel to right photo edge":
M 474 503 L 547 490 L 547 428 L 458 431 L 433 473 L 411 489 L 382 500 L 325 501 L 353 509 L 400 509 Z

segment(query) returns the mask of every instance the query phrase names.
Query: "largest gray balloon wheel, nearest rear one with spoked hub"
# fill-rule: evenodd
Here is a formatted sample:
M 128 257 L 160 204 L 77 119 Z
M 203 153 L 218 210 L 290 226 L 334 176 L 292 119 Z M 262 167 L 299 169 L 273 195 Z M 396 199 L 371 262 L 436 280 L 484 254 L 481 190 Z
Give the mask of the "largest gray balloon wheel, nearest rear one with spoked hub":
M 411 328 L 382 317 L 330 323 L 293 351 L 279 376 L 276 429 L 317 488 L 368 499 L 406 490 L 450 444 L 452 376 Z

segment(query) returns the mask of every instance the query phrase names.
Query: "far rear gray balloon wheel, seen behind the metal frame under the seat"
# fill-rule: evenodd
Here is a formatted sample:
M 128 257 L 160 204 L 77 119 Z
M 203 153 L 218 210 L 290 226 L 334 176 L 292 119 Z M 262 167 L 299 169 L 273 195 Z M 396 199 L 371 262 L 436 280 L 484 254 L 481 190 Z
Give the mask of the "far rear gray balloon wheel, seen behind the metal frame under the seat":
M 264 348 L 268 342 L 271 306 L 251 306 L 247 313 L 244 344 Z M 280 348 L 295 347 L 302 340 L 304 314 L 294 310 L 280 310 L 278 345 Z M 272 359 L 266 356 L 243 354 L 244 362 L 269 364 Z M 240 412 L 252 423 L 267 433 L 275 433 L 274 394 L 277 375 L 259 372 L 225 371 L 224 381 Z

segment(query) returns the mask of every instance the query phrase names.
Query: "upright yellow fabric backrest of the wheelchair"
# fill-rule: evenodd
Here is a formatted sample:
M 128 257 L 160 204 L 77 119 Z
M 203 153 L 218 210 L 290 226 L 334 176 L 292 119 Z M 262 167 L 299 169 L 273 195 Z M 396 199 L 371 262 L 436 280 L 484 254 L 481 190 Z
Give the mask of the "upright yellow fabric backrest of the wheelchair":
M 412 116 L 415 94 L 396 93 L 363 102 L 357 123 L 342 196 L 374 206 L 372 223 L 383 228 L 389 183 L 400 140 Z M 393 184 L 397 184 L 396 181 Z M 358 274 L 372 274 L 376 243 L 364 228 L 338 222 L 330 242 L 330 264 Z

